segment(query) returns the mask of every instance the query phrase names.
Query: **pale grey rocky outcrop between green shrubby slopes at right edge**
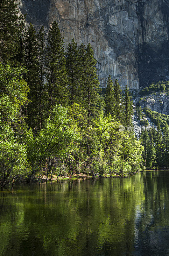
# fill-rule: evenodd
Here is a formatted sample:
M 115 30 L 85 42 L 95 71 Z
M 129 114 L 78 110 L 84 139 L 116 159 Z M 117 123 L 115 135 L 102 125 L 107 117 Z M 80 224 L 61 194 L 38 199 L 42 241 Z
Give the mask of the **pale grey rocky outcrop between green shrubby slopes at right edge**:
M 138 97 L 134 100 L 134 103 L 142 108 L 150 108 L 152 111 L 169 115 L 169 95 L 166 93 L 153 93 Z

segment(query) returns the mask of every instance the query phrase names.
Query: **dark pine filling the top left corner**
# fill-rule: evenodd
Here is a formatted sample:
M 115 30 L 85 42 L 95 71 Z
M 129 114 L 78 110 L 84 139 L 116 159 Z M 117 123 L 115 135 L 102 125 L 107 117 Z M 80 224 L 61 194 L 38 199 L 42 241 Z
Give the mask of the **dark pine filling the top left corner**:
M 6 63 L 18 53 L 19 33 L 22 27 L 23 15 L 19 15 L 15 0 L 0 2 L 0 60 Z

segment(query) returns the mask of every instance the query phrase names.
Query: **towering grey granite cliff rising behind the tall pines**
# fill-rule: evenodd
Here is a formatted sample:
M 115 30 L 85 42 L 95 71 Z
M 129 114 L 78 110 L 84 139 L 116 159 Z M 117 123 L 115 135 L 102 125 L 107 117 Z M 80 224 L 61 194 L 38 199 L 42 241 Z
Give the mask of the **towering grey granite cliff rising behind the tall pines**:
M 102 87 L 109 74 L 123 88 L 168 79 L 168 0 L 22 0 L 27 21 L 56 20 L 65 45 L 90 42 Z

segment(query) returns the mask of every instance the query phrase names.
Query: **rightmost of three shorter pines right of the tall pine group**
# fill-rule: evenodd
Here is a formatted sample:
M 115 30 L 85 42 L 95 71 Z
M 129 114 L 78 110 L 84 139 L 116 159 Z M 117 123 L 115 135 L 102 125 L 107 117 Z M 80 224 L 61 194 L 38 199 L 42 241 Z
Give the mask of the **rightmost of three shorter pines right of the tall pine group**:
M 125 94 L 123 98 L 123 122 L 122 122 L 122 124 L 125 127 L 132 126 L 132 115 L 133 115 L 132 100 L 131 100 L 129 88 L 126 85 Z

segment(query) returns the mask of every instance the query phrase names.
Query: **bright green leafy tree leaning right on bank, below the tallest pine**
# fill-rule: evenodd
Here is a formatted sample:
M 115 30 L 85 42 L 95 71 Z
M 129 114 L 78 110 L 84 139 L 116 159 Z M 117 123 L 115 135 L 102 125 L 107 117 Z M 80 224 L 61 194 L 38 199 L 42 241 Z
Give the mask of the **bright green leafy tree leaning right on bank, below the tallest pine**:
M 56 105 L 38 134 L 33 135 L 32 130 L 26 133 L 27 157 L 33 166 L 31 179 L 46 158 L 66 157 L 74 146 L 72 142 L 78 139 L 74 129 L 68 126 L 67 111 L 66 107 Z

